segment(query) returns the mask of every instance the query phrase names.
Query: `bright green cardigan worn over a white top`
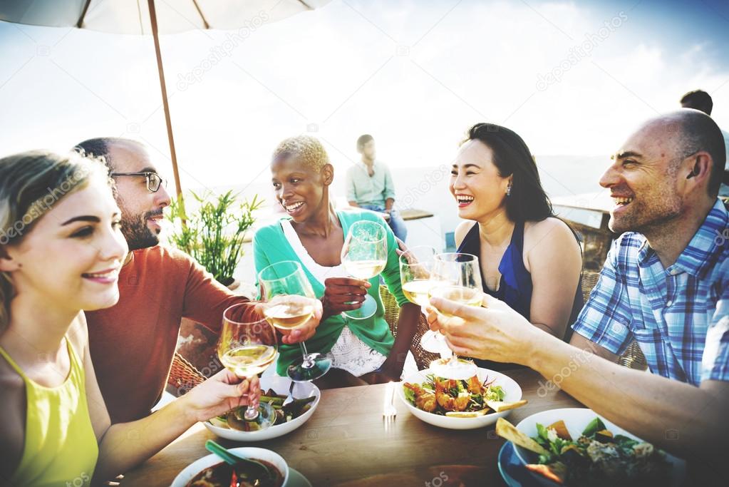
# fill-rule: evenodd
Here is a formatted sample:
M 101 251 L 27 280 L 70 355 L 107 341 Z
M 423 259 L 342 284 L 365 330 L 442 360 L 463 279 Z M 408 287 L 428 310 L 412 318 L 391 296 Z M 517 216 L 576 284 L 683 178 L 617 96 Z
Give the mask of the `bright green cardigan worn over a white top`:
M 350 225 L 358 220 L 371 220 L 378 222 L 382 225 L 387 233 L 387 264 L 385 269 L 382 271 L 381 276 L 385 280 L 390 292 L 394 295 L 397 300 L 397 305 L 401 306 L 408 302 L 408 299 L 402 294 L 402 284 L 400 283 L 400 269 L 399 259 L 397 256 L 397 243 L 395 237 L 390 230 L 390 227 L 386 225 L 385 221 L 372 211 L 352 210 L 352 211 L 337 211 L 340 224 L 344 235 L 347 235 Z M 288 217 L 286 217 L 288 218 Z M 273 264 L 274 262 L 281 262 L 282 260 L 295 260 L 302 264 L 299 256 L 294 252 L 292 246 L 289 245 L 289 241 L 286 240 L 284 230 L 281 228 L 281 223 L 276 222 L 266 227 L 260 228 L 253 237 L 253 255 L 256 264 L 256 275 L 266 266 Z M 324 283 L 320 283 L 314 276 L 304 267 L 304 271 L 311 287 L 316 294 L 316 297 L 324 295 Z M 257 279 L 256 279 L 257 281 Z M 377 311 L 369 319 L 346 319 L 345 317 L 337 314 L 330 316 L 319 324 L 316 328 L 316 333 L 312 338 L 306 340 L 306 348 L 310 352 L 319 352 L 320 354 L 326 354 L 332 349 L 332 346 L 337 342 L 339 335 L 342 333 L 344 325 L 346 324 L 351 332 L 356 335 L 357 338 L 362 340 L 367 346 L 373 348 L 388 356 L 394 343 L 394 338 L 390 332 L 390 327 L 385 321 L 385 308 L 380 298 L 380 279 L 379 276 L 375 276 L 370 279 L 372 287 L 367 290 L 370 296 L 372 296 L 377 303 Z M 256 282 L 258 287 L 258 283 Z M 286 345 L 281 343 L 278 346 L 278 366 L 276 371 L 279 375 L 286 375 L 286 368 L 291 365 L 297 358 L 301 357 L 301 348 L 297 345 Z

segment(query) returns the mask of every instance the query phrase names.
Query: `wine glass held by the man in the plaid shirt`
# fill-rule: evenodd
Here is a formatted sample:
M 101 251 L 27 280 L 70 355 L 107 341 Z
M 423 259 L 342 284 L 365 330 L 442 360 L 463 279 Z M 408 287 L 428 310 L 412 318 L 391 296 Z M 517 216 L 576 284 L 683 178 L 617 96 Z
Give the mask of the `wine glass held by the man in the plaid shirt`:
M 429 297 L 443 297 L 457 303 L 480 306 L 481 271 L 478 257 L 472 254 L 438 254 L 433 263 L 435 284 L 428 292 Z M 453 315 L 438 310 L 442 316 L 452 319 Z M 441 339 L 443 335 L 441 335 Z M 459 359 L 451 354 L 448 359 L 434 360 L 430 365 L 435 375 L 449 379 L 468 379 L 476 375 L 477 367 L 472 360 Z

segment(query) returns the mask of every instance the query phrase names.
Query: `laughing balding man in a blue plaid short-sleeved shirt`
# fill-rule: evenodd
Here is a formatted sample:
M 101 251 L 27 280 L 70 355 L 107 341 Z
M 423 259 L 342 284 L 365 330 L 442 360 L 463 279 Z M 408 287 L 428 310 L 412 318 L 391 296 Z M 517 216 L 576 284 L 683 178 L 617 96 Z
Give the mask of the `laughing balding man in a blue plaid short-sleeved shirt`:
M 542 387 L 559 386 L 644 440 L 698 459 L 709 476 L 703 485 L 725 482 L 724 475 L 712 478 L 729 449 L 721 130 L 706 114 L 683 109 L 646 122 L 612 159 L 600 184 L 615 200 L 610 228 L 623 235 L 569 344 L 488 296 L 482 308 L 433 299 L 464 321 L 431 312 L 429 322 L 457 354 L 527 365 L 548 379 Z M 615 363 L 632 340 L 652 373 Z

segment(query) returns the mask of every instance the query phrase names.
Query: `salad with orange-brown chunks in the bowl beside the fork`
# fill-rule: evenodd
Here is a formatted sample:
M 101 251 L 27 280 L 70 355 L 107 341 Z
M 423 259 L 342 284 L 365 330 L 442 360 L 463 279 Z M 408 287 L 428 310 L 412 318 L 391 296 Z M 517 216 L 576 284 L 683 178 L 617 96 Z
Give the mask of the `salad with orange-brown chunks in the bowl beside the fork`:
M 402 384 L 405 399 L 427 413 L 453 418 L 475 418 L 492 412 L 518 408 L 525 401 L 504 402 L 506 393 L 496 379 L 481 382 L 477 375 L 467 381 L 426 375 L 424 383 Z

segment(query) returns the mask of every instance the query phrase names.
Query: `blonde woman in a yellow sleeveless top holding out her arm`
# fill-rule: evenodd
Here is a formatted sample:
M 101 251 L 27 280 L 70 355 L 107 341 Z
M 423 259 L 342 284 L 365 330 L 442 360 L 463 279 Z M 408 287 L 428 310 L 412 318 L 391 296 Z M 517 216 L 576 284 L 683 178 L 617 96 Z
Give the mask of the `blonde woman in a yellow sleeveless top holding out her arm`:
M 152 416 L 110 424 L 82 313 L 119 299 L 127 245 L 110 184 L 75 154 L 0 159 L 0 485 L 109 480 L 260 394 L 223 370 Z

